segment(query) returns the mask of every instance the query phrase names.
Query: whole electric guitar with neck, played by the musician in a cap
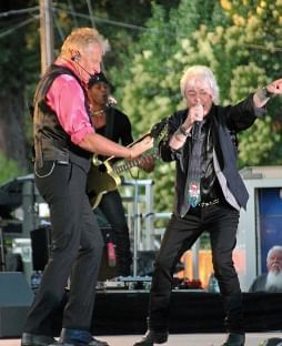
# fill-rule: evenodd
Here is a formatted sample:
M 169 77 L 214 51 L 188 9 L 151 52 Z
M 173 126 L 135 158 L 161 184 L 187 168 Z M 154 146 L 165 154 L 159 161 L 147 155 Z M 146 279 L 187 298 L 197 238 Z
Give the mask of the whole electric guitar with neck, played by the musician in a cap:
M 168 132 L 168 125 L 167 125 L 167 119 L 164 119 L 152 128 L 149 135 L 151 135 L 153 139 L 158 138 L 160 140 L 167 134 L 167 132 Z M 110 163 L 110 159 L 112 157 L 103 162 L 94 157 L 92 161 L 90 171 L 88 173 L 88 181 L 87 181 L 87 194 L 88 194 L 91 207 L 94 210 L 101 202 L 103 194 L 105 194 L 109 191 L 114 191 L 118 189 L 119 185 L 121 185 L 121 177 L 119 175 L 120 173 L 140 165 L 147 157 L 152 157 L 152 159 L 158 157 L 158 149 L 155 144 L 154 144 L 152 154 L 143 154 L 140 157 L 128 161 L 123 164 L 120 164 L 118 162 L 112 165 Z

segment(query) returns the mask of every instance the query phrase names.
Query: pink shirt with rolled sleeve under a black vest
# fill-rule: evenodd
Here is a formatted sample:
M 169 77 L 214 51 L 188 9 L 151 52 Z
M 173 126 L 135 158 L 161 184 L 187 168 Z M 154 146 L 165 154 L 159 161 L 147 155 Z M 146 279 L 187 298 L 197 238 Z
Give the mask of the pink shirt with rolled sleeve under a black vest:
M 69 62 L 60 61 L 58 64 L 75 73 Z M 56 112 L 61 126 L 74 144 L 78 145 L 87 134 L 94 132 L 85 110 L 84 93 L 73 77 L 61 74 L 56 78 L 48 90 L 47 104 Z

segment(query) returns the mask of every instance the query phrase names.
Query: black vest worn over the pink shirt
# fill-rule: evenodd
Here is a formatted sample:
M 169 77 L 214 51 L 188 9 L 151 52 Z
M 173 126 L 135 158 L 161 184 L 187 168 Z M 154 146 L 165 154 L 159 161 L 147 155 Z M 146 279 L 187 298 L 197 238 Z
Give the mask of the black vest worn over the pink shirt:
M 68 68 L 51 65 L 42 77 L 33 101 L 34 161 L 39 167 L 42 167 L 43 161 L 56 161 L 62 164 L 72 162 L 88 171 L 91 153 L 71 142 L 69 134 L 60 125 L 56 112 L 48 106 L 46 101 L 49 88 L 60 74 L 72 75 L 82 88 L 78 77 Z M 83 88 L 82 90 L 85 95 L 85 110 L 90 119 L 87 93 Z

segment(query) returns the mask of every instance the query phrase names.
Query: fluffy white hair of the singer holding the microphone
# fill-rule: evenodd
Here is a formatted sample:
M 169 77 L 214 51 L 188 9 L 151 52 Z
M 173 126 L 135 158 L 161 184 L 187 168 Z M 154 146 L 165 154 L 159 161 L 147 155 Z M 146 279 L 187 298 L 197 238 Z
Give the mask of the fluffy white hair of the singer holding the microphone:
M 211 92 L 212 92 L 212 101 L 214 104 L 219 103 L 219 98 L 220 98 L 220 89 L 216 82 L 216 79 L 214 77 L 214 74 L 212 73 L 212 71 L 204 65 L 194 65 L 191 67 L 189 69 L 187 69 L 180 80 L 180 91 L 181 91 L 181 95 L 183 96 L 183 99 L 185 99 L 185 89 L 187 89 L 187 84 L 191 79 L 201 79 L 202 81 L 205 81 L 210 88 L 211 88 Z

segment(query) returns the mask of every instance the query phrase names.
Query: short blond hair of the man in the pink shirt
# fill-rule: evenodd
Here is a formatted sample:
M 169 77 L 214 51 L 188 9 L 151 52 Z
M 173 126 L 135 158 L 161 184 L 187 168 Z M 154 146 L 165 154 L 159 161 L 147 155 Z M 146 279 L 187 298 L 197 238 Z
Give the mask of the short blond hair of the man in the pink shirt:
M 69 54 L 70 50 L 83 50 L 91 43 L 98 43 L 104 54 L 109 49 L 109 41 L 93 28 L 78 28 L 67 37 L 61 47 L 61 54 Z

